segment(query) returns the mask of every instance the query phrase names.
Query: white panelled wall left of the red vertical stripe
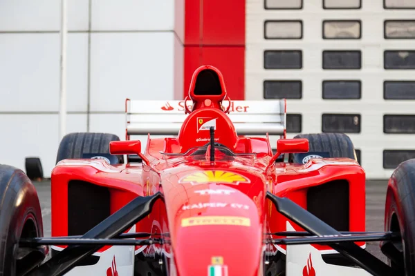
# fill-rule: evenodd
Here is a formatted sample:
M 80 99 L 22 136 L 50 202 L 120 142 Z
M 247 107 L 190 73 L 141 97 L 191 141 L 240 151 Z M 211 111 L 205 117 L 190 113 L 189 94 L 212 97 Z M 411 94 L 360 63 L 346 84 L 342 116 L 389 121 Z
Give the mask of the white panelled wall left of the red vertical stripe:
M 124 139 L 125 98 L 174 99 L 183 82 L 174 80 L 183 71 L 175 8 L 174 0 L 68 1 L 66 132 Z M 0 163 L 24 169 L 37 156 L 45 177 L 59 146 L 60 16 L 60 1 L 0 1 Z

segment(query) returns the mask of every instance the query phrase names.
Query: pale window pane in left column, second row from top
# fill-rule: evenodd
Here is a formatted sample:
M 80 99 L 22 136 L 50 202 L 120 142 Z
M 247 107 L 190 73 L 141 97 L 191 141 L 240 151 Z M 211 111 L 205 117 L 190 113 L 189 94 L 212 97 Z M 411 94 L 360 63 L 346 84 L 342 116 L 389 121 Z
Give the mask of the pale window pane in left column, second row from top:
M 264 22 L 265 39 L 302 39 L 302 20 L 267 20 Z

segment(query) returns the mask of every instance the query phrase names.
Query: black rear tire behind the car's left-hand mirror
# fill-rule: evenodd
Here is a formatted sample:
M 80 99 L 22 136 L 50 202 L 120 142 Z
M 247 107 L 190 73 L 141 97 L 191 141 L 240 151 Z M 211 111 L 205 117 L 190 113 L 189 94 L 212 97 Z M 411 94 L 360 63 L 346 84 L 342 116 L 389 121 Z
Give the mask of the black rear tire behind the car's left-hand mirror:
M 124 155 L 110 155 L 109 142 L 120 141 L 110 133 L 75 132 L 65 135 L 57 150 L 56 163 L 63 159 L 82 159 L 84 155 L 106 157 L 111 164 L 123 164 Z

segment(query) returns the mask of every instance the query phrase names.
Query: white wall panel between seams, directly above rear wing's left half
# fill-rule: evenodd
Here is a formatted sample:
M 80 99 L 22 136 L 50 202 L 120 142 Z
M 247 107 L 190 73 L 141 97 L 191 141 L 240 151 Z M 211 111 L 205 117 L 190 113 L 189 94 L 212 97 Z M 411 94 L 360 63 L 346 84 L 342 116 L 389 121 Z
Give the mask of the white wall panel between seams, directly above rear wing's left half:
M 91 111 L 124 112 L 126 98 L 172 99 L 173 69 L 173 32 L 91 34 Z

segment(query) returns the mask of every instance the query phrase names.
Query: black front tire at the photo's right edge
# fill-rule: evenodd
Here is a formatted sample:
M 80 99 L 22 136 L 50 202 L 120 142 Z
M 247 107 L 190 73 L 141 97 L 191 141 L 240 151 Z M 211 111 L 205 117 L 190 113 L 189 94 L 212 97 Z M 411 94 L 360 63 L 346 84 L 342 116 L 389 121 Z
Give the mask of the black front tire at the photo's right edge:
M 381 243 L 389 266 L 400 275 L 415 275 L 415 159 L 401 163 L 389 179 L 385 203 L 385 231 L 399 232 L 398 241 Z

